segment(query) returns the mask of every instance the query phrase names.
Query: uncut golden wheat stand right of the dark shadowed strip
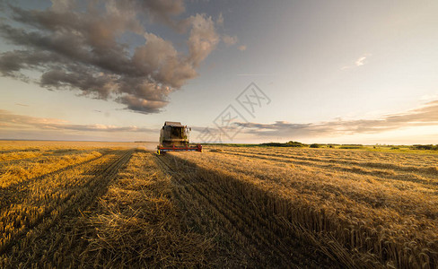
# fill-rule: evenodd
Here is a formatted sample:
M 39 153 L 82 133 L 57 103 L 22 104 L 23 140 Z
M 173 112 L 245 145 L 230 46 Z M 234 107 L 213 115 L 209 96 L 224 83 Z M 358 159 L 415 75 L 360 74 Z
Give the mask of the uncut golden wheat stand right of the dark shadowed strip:
M 332 156 L 319 156 L 327 151 L 310 151 L 300 158 L 275 157 L 269 150 L 263 156 L 262 150 L 258 151 L 255 154 L 248 149 L 239 152 L 236 148 L 222 148 L 215 153 L 206 152 L 202 158 L 182 153 L 175 156 L 212 173 L 246 182 L 250 186 L 247 190 L 264 190 L 274 199 L 269 202 L 274 204 L 270 208 L 272 214 L 282 215 L 319 237 L 320 249 L 344 260 L 345 265 L 436 266 L 438 198 L 433 166 L 406 169 L 409 163 L 390 163 L 390 169 L 384 170 L 399 168 L 399 172 L 387 175 L 382 173 L 386 165 L 378 166 L 377 160 L 355 161 L 365 170 L 347 169 L 353 161 L 349 160 L 351 156 L 344 160 L 345 151 L 333 151 L 338 154 L 337 161 Z M 360 154 L 357 152 L 355 155 Z M 297 153 L 293 151 L 291 155 Z M 434 158 L 416 157 L 420 159 L 416 161 Z M 333 164 L 342 169 L 334 169 Z M 372 171 L 374 167 L 378 170 Z M 396 176 L 401 177 L 407 170 L 422 180 L 398 180 L 401 178 Z M 262 192 L 254 200 L 264 199 L 263 195 Z

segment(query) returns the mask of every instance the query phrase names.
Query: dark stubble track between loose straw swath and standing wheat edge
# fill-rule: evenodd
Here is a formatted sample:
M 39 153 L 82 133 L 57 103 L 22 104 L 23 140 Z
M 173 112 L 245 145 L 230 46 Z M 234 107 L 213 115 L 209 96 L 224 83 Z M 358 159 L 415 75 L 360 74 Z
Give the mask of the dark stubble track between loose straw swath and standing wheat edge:
M 268 213 L 258 214 L 257 202 L 246 199 L 245 195 L 234 195 L 235 190 L 230 189 L 232 185 L 227 181 L 237 178 L 220 180 L 223 175 L 200 169 L 170 154 L 157 156 L 156 160 L 171 174 L 173 195 L 194 227 L 204 233 L 220 230 L 216 236 L 226 241 L 228 251 L 241 252 L 233 254 L 241 255 L 238 265 L 336 267 L 329 265 L 329 259 L 315 247 L 306 246 L 292 232 L 285 233 L 287 223 L 283 219 Z

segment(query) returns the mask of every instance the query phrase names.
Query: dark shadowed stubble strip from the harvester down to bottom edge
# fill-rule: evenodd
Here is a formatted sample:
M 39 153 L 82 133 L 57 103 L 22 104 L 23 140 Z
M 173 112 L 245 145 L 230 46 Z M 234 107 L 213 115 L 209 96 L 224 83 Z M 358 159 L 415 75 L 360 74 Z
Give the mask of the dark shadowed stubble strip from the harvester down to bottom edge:
M 169 165 L 175 186 L 184 190 L 177 197 L 180 203 L 191 210 L 192 219 L 200 218 L 197 226 L 206 225 L 199 230 L 222 230 L 256 265 L 355 267 L 346 254 L 334 256 L 319 236 L 303 228 L 293 212 L 296 204 L 292 206 L 290 199 L 255 182 L 234 178 L 226 171 L 201 168 L 173 154 L 159 158 Z M 312 212 L 308 217 L 323 221 L 318 214 Z M 207 227 L 208 222 L 215 224 Z

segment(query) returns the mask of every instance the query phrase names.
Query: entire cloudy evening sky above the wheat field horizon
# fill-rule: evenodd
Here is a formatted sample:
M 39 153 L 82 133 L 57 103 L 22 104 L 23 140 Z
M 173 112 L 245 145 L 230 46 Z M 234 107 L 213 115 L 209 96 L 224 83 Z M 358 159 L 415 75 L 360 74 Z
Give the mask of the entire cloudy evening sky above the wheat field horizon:
M 438 143 L 436 1 L 0 0 L 0 139 Z

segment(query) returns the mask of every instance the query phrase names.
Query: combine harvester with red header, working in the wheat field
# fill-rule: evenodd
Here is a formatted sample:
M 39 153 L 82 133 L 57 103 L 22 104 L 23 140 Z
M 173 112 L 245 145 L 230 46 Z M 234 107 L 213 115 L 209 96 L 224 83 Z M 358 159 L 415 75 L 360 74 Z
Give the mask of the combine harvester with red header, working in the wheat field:
M 157 154 L 164 152 L 202 152 L 202 145 L 189 144 L 189 132 L 191 128 L 181 125 L 180 122 L 166 121 L 160 131 L 160 144 L 157 146 Z

